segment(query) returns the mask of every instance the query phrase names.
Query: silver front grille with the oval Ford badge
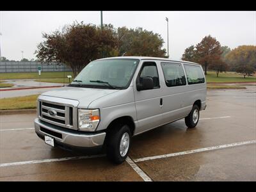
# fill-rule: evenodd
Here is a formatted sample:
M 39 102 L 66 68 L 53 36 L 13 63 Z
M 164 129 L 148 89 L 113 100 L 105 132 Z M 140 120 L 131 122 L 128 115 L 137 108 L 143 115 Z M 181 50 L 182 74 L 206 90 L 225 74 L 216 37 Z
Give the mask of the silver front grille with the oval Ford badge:
M 75 129 L 73 125 L 73 117 L 75 116 L 73 107 L 65 106 L 65 104 L 53 104 L 49 100 L 39 100 L 40 119 L 49 124 Z

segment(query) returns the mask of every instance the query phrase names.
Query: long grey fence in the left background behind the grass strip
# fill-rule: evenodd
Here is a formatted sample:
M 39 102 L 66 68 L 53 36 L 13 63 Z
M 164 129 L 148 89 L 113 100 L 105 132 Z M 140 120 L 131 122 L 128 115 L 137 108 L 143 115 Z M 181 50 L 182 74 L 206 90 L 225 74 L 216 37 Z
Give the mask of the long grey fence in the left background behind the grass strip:
M 41 63 L 36 61 L 2 61 L 0 62 L 0 73 L 10 72 L 61 72 L 72 71 L 70 67 L 62 63 Z

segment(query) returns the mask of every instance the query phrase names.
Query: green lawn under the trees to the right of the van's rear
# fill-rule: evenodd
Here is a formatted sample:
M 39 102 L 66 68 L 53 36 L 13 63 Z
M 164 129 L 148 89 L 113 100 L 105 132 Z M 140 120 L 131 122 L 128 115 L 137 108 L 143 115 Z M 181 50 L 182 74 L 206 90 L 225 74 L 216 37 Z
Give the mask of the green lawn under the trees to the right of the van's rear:
M 219 77 L 216 76 L 215 72 L 207 72 L 206 76 L 207 83 L 228 83 L 228 82 L 255 82 L 256 77 L 243 77 L 241 74 L 236 72 L 222 72 Z

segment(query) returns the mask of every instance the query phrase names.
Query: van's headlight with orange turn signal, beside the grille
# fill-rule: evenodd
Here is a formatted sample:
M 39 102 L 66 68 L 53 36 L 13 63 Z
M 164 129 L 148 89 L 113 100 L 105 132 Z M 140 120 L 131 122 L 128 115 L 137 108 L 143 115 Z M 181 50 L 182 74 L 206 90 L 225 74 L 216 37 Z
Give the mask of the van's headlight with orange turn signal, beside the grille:
M 99 109 L 78 109 L 78 127 L 80 131 L 95 131 L 99 122 Z

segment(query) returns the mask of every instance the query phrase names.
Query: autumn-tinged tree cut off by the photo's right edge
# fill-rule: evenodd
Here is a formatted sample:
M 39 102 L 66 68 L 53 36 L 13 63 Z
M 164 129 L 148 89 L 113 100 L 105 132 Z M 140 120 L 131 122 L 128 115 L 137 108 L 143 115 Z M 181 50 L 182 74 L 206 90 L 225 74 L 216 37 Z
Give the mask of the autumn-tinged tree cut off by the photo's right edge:
M 226 59 L 244 78 L 250 76 L 256 71 L 256 46 L 241 45 L 228 52 Z

